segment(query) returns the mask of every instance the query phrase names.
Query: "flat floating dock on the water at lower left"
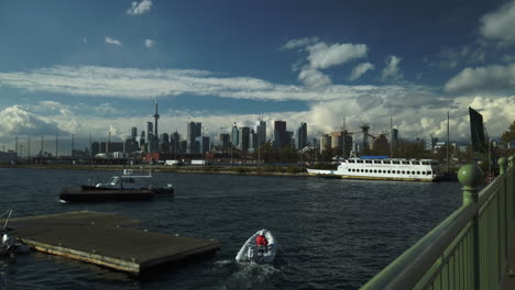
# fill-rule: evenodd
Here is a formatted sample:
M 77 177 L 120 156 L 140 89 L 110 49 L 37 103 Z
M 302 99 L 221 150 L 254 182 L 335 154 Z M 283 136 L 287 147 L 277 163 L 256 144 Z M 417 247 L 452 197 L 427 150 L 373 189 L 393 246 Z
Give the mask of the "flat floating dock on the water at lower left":
M 220 248 L 215 239 L 149 232 L 120 214 L 69 212 L 11 219 L 9 227 L 30 247 L 58 256 L 144 275 L 156 266 L 210 256 Z

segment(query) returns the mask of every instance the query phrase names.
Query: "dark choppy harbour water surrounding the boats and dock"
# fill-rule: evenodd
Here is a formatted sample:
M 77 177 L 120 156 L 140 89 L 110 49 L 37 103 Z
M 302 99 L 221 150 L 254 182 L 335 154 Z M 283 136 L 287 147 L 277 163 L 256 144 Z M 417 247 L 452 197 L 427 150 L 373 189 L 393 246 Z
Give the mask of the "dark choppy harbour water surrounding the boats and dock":
M 0 289 L 357 289 L 461 204 L 457 182 L 419 183 L 298 177 L 154 174 L 174 199 L 61 204 L 63 187 L 112 172 L 0 168 L 0 211 L 14 215 L 113 212 L 147 228 L 217 238 L 213 258 L 144 280 L 32 253 L 0 264 Z M 266 227 L 281 250 L 274 265 L 234 256 Z

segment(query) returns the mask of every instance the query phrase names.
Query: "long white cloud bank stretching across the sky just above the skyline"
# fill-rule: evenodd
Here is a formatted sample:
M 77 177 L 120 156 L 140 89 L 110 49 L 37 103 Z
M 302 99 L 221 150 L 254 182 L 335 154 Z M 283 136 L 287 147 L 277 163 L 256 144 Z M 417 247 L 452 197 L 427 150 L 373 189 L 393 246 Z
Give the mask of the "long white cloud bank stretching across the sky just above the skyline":
M 303 71 L 309 71 L 307 69 Z M 306 79 L 308 79 L 308 72 Z M 311 71 L 314 76 L 316 71 Z M 324 79 L 324 76 L 320 76 Z M 314 78 L 315 79 L 315 78 Z M 315 82 L 316 83 L 316 82 Z M 424 137 L 429 133 L 438 136 L 442 134 L 441 122 L 447 118 L 447 111 L 451 110 L 451 136 L 452 138 L 467 137 L 469 105 L 475 109 L 484 109 L 486 126 L 491 135 L 501 133 L 507 129 L 509 122 L 495 121 L 496 112 L 502 112 L 506 120 L 515 119 L 515 97 L 506 96 L 462 96 L 454 100 L 438 96 L 425 87 L 415 86 L 339 86 L 326 83 L 322 87 L 277 85 L 256 78 L 248 77 L 218 77 L 209 71 L 201 70 L 143 70 L 131 68 L 107 67 L 53 67 L 36 69 L 28 72 L 0 72 L 0 86 L 19 88 L 34 94 L 37 92 L 55 92 L 69 96 L 101 97 L 101 98 L 128 98 L 149 101 L 149 110 L 152 111 L 152 100 L 149 96 L 216 96 L 232 99 L 256 99 L 263 101 L 296 100 L 305 101 L 307 110 L 300 112 L 274 111 L 265 116 L 269 122 L 273 120 L 286 120 L 288 127 L 300 122 L 308 123 L 308 134 L 318 137 L 319 133 L 327 133 L 341 126 L 341 118 L 348 120 L 349 129 L 358 131 L 362 122 L 370 123 L 371 133 L 376 134 L 388 129 L 390 114 L 399 122 L 399 131 L 403 137 Z M 101 102 L 109 102 L 107 101 Z M 9 120 L 0 124 L 2 136 L 25 134 L 19 127 L 28 127 L 30 123 L 47 123 L 50 130 L 31 131 L 31 134 L 54 134 L 56 130 L 63 134 L 107 136 L 109 129 L 118 132 L 123 137 L 131 126 L 142 129 L 149 115 L 133 115 L 133 113 L 92 114 L 96 109 L 83 104 L 65 105 L 56 101 L 42 101 L 33 104 L 31 110 L 14 110 L 17 113 L 0 113 L 1 120 Z M 46 109 L 43 109 L 46 108 Z M 449 109 L 450 108 L 450 109 Z M 8 111 L 6 108 L 4 111 Z M 162 110 L 160 124 L 162 129 L 185 133 L 185 123 L 188 116 L 202 122 L 207 131 L 219 132 L 219 127 L 232 122 L 249 123 L 258 120 L 253 114 L 221 114 L 212 111 L 166 111 Z M 13 109 L 9 109 L 13 110 Z M 42 111 L 46 110 L 46 111 Z M 31 112 L 39 122 L 25 122 L 15 120 L 31 120 L 26 113 Z M 40 115 L 37 115 L 39 113 Z M 112 112 L 111 112 L 112 113 Z M 266 112 L 264 112 L 266 114 Z M 43 116 L 44 115 L 44 116 Z M 503 119 L 503 120 L 504 120 Z M 6 127 L 10 124 L 10 127 Z M 270 123 L 271 124 L 271 123 Z M 2 127 L 3 126 L 3 127 Z M 41 132 L 40 132 L 41 131 Z M 269 132 L 270 133 L 270 132 Z

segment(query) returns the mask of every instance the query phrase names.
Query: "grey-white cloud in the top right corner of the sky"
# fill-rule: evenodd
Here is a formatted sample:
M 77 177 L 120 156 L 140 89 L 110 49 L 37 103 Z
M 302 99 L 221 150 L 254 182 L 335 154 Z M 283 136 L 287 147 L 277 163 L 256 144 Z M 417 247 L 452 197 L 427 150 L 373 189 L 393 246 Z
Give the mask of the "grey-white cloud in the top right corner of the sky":
M 513 43 L 515 34 L 515 1 L 501 5 L 497 10 L 481 18 L 481 34 L 490 40 Z

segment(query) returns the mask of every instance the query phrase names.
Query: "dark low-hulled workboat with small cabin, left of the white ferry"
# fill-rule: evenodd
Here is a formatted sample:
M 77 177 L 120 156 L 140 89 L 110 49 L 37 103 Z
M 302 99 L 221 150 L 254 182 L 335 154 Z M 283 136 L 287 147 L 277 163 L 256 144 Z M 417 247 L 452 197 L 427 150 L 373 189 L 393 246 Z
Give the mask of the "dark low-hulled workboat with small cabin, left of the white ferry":
M 124 169 L 122 175 L 111 177 L 111 180 L 96 186 L 81 185 L 80 190 L 63 190 L 59 194 L 62 202 L 89 201 L 141 201 L 151 200 L 156 194 L 172 196 L 174 188 L 155 187 L 151 183 L 152 171 L 145 176 L 134 176 L 132 169 Z

